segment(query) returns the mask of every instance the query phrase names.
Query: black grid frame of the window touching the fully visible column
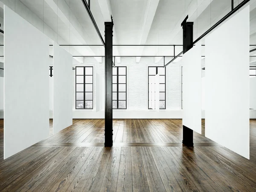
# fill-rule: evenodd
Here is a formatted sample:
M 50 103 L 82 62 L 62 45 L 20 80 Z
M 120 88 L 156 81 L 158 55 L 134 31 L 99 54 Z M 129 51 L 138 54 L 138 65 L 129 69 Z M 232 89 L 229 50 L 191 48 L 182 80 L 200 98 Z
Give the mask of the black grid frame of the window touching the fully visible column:
M 119 75 L 119 67 L 125 67 L 125 75 Z M 113 70 L 114 67 L 112 67 Z M 116 83 L 113 83 L 113 76 L 116 76 Z M 125 83 L 119 83 L 119 76 L 125 76 Z M 113 75 L 112 71 L 112 87 L 116 84 L 116 91 L 112 90 L 112 108 L 113 102 L 116 101 L 116 108 L 113 109 L 127 109 L 127 67 L 126 66 L 116 66 L 116 75 Z M 119 91 L 119 84 L 125 84 L 125 91 Z M 116 99 L 113 99 L 113 93 L 116 93 Z M 119 99 L 119 93 L 125 93 L 125 100 Z M 125 108 L 119 108 L 119 101 L 125 101 Z

